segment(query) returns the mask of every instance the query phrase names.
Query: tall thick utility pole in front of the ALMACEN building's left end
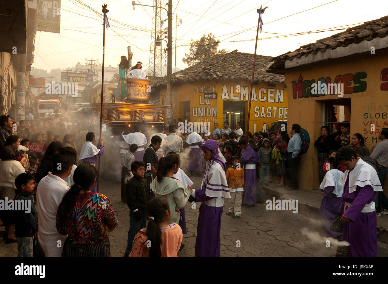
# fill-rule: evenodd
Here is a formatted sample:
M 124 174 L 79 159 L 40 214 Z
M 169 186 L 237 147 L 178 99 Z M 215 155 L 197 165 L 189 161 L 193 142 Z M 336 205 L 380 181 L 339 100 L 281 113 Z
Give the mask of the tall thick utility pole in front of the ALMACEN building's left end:
M 168 0 L 168 29 L 167 29 L 167 123 L 172 124 L 172 0 Z

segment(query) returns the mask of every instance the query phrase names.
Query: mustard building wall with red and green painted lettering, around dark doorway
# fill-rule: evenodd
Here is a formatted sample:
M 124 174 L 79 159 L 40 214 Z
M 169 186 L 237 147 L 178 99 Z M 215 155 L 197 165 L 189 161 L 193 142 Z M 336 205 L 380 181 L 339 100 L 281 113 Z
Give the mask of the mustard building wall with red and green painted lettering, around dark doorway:
M 330 77 L 333 83 L 337 76 L 341 76 L 339 83 L 348 85 L 347 90 L 352 92 L 344 93 L 343 97 L 339 97 L 338 94 L 326 94 L 313 98 L 311 96 L 294 98 L 294 95 L 298 96 L 296 90 L 300 84 L 305 83 L 298 80 L 300 75 L 303 81 L 315 79 L 315 83 L 321 77 Z M 288 83 L 295 80 L 298 83 Z M 285 74 L 285 81 L 288 90 L 288 128 L 291 124 L 298 123 L 310 136 L 308 151 L 301 156 L 298 182 L 300 188 L 311 191 L 319 188 L 318 150 L 314 146 L 314 141 L 320 136 L 320 127 L 326 125 L 322 124 L 322 102 L 351 99 L 350 137 L 355 133 L 362 134 L 369 150 L 379 142 L 378 135 L 381 128 L 388 127 L 388 55 L 376 55 L 341 64 L 288 72 Z M 306 86 L 308 86 L 307 83 L 305 83 Z M 365 84 L 365 91 L 355 92 L 364 90 Z M 309 88 L 306 90 L 308 91 Z M 372 125 L 375 126 L 374 131 L 371 130 Z M 331 126 L 329 127 L 332 129 Z M 386 182 L 385 193 L 388 193 L 387 185 L 388 182 Z

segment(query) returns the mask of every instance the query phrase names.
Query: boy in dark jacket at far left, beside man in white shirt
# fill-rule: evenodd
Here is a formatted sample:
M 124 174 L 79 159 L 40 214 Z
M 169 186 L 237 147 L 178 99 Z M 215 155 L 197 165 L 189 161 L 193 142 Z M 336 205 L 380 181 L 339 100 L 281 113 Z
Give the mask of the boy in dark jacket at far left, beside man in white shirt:
M 38 235 L 38 213 L 31 192 L 34 190 L 35 177 L 23 173 L 15 179 L 15 230 L 17 238 L 17 257 L 33 257 L 33 237 Z

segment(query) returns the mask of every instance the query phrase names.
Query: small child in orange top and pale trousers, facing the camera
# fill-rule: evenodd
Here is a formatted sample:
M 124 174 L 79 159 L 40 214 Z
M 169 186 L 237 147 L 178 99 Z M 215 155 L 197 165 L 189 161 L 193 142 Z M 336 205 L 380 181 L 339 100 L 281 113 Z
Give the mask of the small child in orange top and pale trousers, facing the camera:
M 232 157 L 233 165 L 226 171 L 226 179 L 229 185 L 229 211 L 226 215 L 233 215 L 233 218 L 241 217 L 242 192 L 244 189 L 244 170 L 240 166 L 240 157 Z M 238 165 L 237 165 L 238 164 Z M 237 169 L 238 166 L 238 169 Z

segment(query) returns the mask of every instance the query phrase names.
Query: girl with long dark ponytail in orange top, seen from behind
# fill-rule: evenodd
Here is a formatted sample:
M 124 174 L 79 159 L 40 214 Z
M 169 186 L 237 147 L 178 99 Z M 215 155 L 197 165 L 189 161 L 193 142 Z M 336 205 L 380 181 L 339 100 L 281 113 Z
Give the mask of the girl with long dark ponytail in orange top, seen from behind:
M 170 224 L 171 212 L 165 198 L 149 200 L 147 215 L 147 228 L 136 234 L 130 257 L 178 257 L 182 229 L 176 223 Z

